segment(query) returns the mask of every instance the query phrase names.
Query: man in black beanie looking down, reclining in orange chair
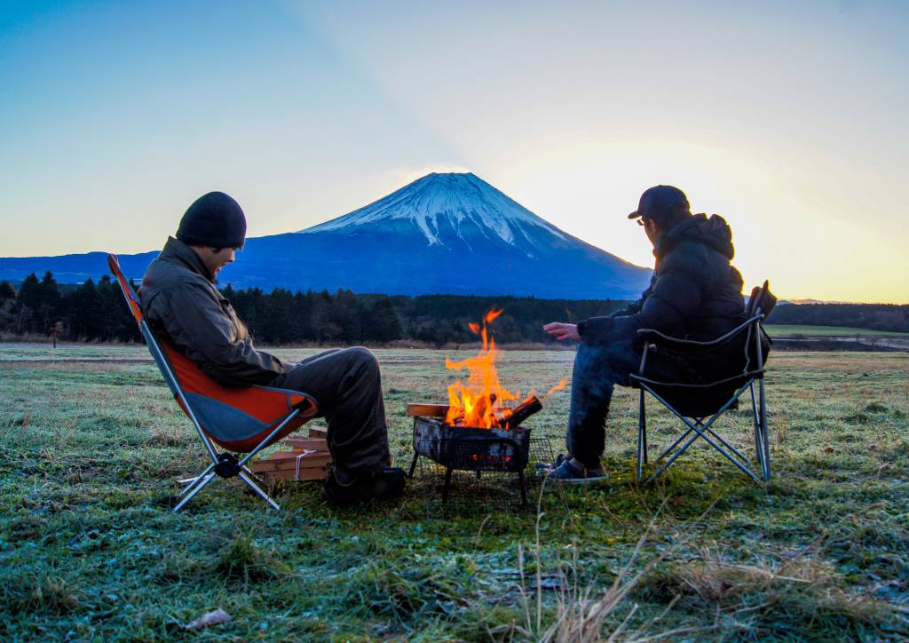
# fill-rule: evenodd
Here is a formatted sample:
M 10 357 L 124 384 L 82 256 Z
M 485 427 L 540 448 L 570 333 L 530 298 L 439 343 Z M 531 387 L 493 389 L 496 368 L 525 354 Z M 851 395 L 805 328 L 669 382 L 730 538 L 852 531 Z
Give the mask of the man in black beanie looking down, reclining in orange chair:
M 156 337 L 170 341 L 226 387 L 264 385 L 305 392 L 328 422 L 335 462 L 325 495 L 343 505 L 393 497 L 405 475 L 390 467 L 379 366 L 364 347 L 328 350 L 288 363 L 256 350 L 249 330 L 215 287 L 218 272 L 246 238 L 240 205 L 223 192 L 195 200 L 139 288 Z

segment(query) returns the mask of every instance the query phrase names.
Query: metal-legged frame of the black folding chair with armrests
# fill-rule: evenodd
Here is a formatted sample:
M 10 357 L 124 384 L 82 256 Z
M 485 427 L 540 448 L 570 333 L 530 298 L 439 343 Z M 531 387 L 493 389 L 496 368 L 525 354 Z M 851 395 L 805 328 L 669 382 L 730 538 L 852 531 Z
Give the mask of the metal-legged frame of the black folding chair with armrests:
M 770 469 L 770 439 L 767 428 L 767 407 L 766 399 L 764 396 L 764 372 L 766 367 L 764 365 L 764 354 L 761 347 L 761 337 L 766 337 L 766 333 L 762 326 L 762 322 L 766 315 L 762 311 L 760 304 L 757 302 L 761 300 L 761 296 L 764 292 L 769 294 L 767 289 L 767 284 L 764 283 L 764 286 L 760 289 L 755 288 L 752 293 L 752 301 L 749 304 L 749 318 L 740 326 L 735 327 L 733 330 L 726 333 L 723 337 L 719 337 L 709 342 L 696 342 L 693 340 L 678 339 L 674 337 L 667 337 L 659 331 L 653 329 L 641 329 L 638 331 L 640 337 L 643 337 L 645 340 L 650 339 L 650 341 L 644 345 L 644 355 L 641 359 L 641 372 L 640 374 L 633 374 L 630 376 L 632 386 L 640 389 L 640 397 L 638 402 L 638 432 L 637 432 L 637 481 L 640 482 L 644 474 L 644 464 L 647 463 L 647 419 L 646 419 L 646 403 L 645 403 L 645 393 L 649 393 L 657 401 L 663 404 L 664 407 L 668 408 L 675 417 L 678 417 L 684 423 L 686 429 L 684 433 L 677 437 L 672 445 L 664 449 L 660 457 L 656 458 L 656 461 L 659 462 L 664 458 L 668 457 L 664 462 L 663 466 L 657 469 L 657 471 L 647 479 L 646 484 L 650 484 L 656 480 L 657 477 L 663 475 L 665 470 L 669 468 L 675 460 L 680 457 L 688 447 L 691 447 L 692 444 L 697 440 L 697 438 L 704 438 L 704 441 L 709 444 L 711 447 L 714 447 L 719 453 L 726 457 L 730 462 L 732 462 L 735 467 L 738 467 L 746 476 L 754 479 L 755 482 L 768 482 L 771 477 Z M 774 298 L 775 302 L 775 298 Z M 773 304 L 769 306 L 773 307 Z M 769 310 L 767 311 L 769 313 Z M 754 341 L 754 355 L 756 356 L 757 364 L 753 369 L 749 369 L 750 362 L 746 362 L 744 371 L 741 374 L 735 375 L 734 377 L 726 377 L 721 380 L 706 384 L 687 384 L 681 382 L 660 382 L 648 377 L 644 377 L 644 367 L 646 362 L 647 351 L 652 347 L 659 346 L 661 343 L 664 345 L 673 346 L 677 349 L 681 349 L 678 352 L 706 352 L 711 348 L 719 347 L 724 343 L 738 337 L 740 334 L 748 332 L 748 337 L 744 342 L 745 351 L 749 348 L 749 343 Z M 722 386 L 724 384 L 728 385 L 733 381 L 741 381 L 741 386 L 737 387 L 732 397 L 721 406 L 719 409 L 714 412 L 713 415 L 705 415 L 703 417 L 686 417 L 681 412 L 679 412 L 672 404 L 670 404 L 663 396 L 654 390 L 654 387 L 681 387 L 684 389 L 691 390 L 692 392 L 697 392 L 698 390 L 704 391 L 717 386 Z M 755 387 L 756 381 L 756 387 Z M 744 454 L 739 451 L 737 448 L 733 447 L 724 437 L 720 436 L 714 430 L 714 422 L 719 419 L 730 407 L 738 401 L 745 391 L 750 391 L 751 393 L 751 408 L 752 408 L 752 417 L 754 421 L 754 449 L 756 453 L 757 465 L 760 467 L 760 476 L 756 474 L 751 467 L 749 467 L 750 461 L 748 457 L 745 457 Z M 681 445 L 681 446 L 680 446 Z

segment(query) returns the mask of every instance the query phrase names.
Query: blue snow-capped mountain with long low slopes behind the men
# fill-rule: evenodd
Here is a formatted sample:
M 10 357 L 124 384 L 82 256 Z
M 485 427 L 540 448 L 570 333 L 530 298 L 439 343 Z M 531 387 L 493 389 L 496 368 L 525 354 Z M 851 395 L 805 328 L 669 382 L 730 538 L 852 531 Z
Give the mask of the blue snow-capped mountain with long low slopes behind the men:
M 120 256 L 121 266 L 138 280 L 156 255 Z M 105 256 L 0 259 L 0 279 L 45 270 L 64 283 L 97 279 L 106 272 Z M 628 299 L 640 295 L 650 274 L 564 233 L 478 176 L 430 174 L 317 226 L 247 239 L 219 279 L 266 292 L 340 287 L 389 295 Z

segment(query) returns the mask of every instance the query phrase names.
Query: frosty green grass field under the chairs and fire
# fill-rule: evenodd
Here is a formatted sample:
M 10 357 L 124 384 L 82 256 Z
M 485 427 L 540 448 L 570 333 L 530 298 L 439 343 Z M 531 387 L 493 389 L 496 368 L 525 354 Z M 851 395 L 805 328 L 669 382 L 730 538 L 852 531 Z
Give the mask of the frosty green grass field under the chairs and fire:
M 443 399 L 445 353 L 377 354 L 407 460 L 405 404 Z M 772 355 L 766 486 L 702 446 L 637 487 L 636 397 L 619 389 L 609 482 L 568 489 L 567 509 L 547 491 L 542 516 L 442 510 L 425 478 L 346 510 L 289 487 L 281 513 L 219 480 L 175 516 L 175 477 L 204 460 L 145 357 L 0 345 L 3 640 L 909 636 L 909 355 Z M 501 373 L 545 389 L 572 358 L 510 352 Z M 561 440 L 567 393 L 536 434 Z M 723 426 L 751 453 L 745 410 Z M 216 608 L 232 620 L 183 629 Z

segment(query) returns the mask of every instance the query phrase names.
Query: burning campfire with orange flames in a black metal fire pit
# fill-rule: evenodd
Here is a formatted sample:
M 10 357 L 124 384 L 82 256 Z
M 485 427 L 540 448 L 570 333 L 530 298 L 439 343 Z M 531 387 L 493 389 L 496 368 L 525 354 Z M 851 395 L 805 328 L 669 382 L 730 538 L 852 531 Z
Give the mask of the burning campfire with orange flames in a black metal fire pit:
M 495 347 L 489 326 L 502 315 L 502 309 L 486 313 L 481 323 L 470 329 L 482 345 L 474 357 L 461 361 L 445 359 L 450 371 L 464 372 L 448 387 L 448 404 L 409 404 L 407 415 L 414 417 L 414 476 L 420 456 L 429 457 L 445 467 L 443 499 L 447 499 L 453 470 L 516 473 L 521 483 L 521 499 L 526 504 L 524 468 L 530 455 L 530 428 L 523 422 L 543 408 L 543 402 L 564 388 L 564 379 L 541 400 L 530 392 L 527 397 L 505 388 L 499 380 Z

